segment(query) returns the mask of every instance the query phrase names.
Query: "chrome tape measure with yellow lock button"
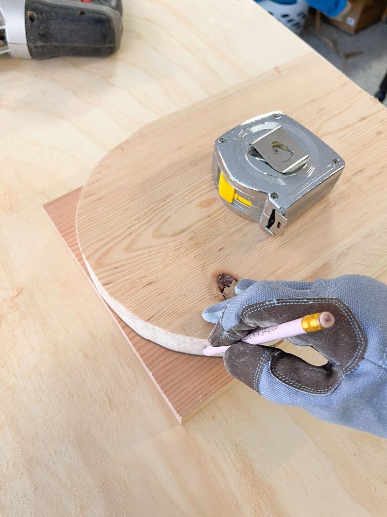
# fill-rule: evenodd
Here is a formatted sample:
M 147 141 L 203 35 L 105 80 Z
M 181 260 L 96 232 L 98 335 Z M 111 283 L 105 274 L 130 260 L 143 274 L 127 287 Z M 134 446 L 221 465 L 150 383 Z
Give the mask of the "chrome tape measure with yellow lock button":
M 344 160 L 280 111 L 260 115 L 215 142 L 213 173 L 220 197 L 270 235 L 333 188 Z

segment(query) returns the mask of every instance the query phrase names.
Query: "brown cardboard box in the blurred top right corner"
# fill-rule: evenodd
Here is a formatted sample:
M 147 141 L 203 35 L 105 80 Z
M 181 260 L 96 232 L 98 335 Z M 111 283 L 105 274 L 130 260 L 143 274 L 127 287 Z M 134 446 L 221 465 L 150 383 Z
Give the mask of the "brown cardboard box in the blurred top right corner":
M 349 0 L 352 7 L 343 21 L 327 19 L 329 23 L 348 34 L 356 34 L 362 29 L 381 20 L 387 0 Z

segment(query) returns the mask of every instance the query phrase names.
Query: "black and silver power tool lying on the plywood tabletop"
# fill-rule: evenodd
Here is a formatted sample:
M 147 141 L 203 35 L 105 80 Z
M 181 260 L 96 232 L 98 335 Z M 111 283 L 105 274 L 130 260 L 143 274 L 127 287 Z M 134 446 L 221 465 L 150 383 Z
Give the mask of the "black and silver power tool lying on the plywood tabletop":
M 0 0 L 0 54 L 103 57 L 121 35 L 121 0 Z

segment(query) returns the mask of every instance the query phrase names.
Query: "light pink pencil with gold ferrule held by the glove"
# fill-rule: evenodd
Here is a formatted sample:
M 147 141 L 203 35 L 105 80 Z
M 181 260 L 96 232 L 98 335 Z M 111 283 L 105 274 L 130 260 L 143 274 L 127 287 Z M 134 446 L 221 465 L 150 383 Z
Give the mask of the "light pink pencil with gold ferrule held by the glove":
M 316 332 L 334 325 L 334 317 L 330 312 L 317 312 L 316 314 L 307 314 L 297 320 L 291 322 L 273 325 L 268 328 L 261 328 L 247 334 L 240 341 L 250 345 L 262 345 L 270 341 L 279 341 L 280 339 L 293 338 L 306 334 L 307 332 Z M 228 346 L 212 346 L 204 348 L 202 354 L 205 356 L 213 356 L 223 354 L 231 345 Z

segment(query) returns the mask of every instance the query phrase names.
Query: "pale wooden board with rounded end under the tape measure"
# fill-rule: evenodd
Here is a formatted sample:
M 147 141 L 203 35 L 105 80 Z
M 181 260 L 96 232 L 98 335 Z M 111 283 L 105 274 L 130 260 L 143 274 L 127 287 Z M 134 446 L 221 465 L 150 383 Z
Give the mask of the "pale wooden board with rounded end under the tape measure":
M 224 207 L 211 170 L 217 136 L 275 109 L 346 161 L 333 192 L 284 237 Z M 201 312 L 220 300 L 219 272 L 269 280 L 367 273 L 387 251 L 386 126 L 385 109 L 314 54 L 159 119 L 112 150 L 83 189 L 77 234 L 93 282 L 141 336 L 200 354 L 211 330 Z M 379 207 L 372 217 L 369 200 Z M 353 259 L 365 249 L 362 268 Z

